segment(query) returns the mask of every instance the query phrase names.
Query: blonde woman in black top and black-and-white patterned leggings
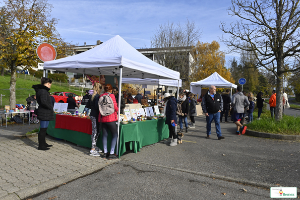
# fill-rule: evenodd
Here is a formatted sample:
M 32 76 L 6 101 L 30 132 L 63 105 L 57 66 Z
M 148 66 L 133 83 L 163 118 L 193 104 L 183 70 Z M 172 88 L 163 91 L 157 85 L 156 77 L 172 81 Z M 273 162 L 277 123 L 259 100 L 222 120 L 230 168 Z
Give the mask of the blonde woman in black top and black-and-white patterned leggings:
M 99 136 L 100 131 L 100 123 L 98 122 L 99 118 L 99 97 L 102 90 L 102 86 L 99 83 L 94 83 L 93 86 L 93 95 L 90 97 L 89 102 L 86 106 L 91 108 L 90 118 L 92 121 L 92 149 L 90 151 L 90 156 L 100 156 L 100 150 L 98 147 L 96 147 L 97 139 Z

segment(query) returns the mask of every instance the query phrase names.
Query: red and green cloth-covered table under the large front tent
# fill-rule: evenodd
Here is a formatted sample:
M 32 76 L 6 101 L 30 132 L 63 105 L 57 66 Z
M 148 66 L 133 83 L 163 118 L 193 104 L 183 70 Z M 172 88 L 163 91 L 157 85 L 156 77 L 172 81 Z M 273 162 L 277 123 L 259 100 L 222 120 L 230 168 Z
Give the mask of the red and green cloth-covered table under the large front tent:
M 91 148 L 92 122 L 90 119 L 61 114 L 55 114 L 54 117 L 55 120 L 50 121 L 48 125 L 48 135 Z M 143 146 L 157 143 L 168 137 L 168 126 L 165 125 L 165 119 L 163 118 L 129 122 L 127 124 L 120 123 L 118 157 L 126 152 L 125 143 L 129 143 L 130 150 L 137 153 Z M 110 141 L 111 134 L 108 134 L 108 149 L 110 149 Z M 102 131 L 96 145 L 103 150 Z

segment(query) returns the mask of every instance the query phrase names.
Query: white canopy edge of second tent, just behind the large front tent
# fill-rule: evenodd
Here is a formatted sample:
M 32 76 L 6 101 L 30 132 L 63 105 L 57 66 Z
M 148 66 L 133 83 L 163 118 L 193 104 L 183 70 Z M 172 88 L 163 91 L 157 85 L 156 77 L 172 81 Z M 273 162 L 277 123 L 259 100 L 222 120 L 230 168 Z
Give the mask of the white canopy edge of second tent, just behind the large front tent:
M 135 79 L 135 78 L 122 78 L 122 83 L 141 84 L 141 85 L 162 85 L 162 86 L 178 86 L 177 80 L 171 79 Z M 179 80 L 179 87 L 182 87 L 182 80 Z

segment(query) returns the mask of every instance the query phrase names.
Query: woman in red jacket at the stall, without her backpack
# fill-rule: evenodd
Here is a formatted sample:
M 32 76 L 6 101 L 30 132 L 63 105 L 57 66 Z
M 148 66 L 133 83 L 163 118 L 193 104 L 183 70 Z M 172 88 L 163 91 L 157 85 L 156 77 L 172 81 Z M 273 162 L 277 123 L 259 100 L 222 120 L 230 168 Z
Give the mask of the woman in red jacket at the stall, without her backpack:
M 102 132 L 103 132 L 103 138 L 102 138 L 102 143 L 103 143 L 103 150 L 104 154 L 101 155 L 102 158 L 107 158 L 108 160 L 112 159 L 117 159 L 116 155 L 114 154 L 114 148 L 118 136 L 117 132 L 117 126 L 116 126 L 116 121 L 117 121 L 117 103 L 115 101 L 114 94 L 112 94 L 112 86 L 110 84 L 106 84 L 104 86 L 104 93 L 100 95 L 100 98 L 103 95 L 109 95 L 112 99 L 113 102 L 113 107 L 114 107 L 114 113 L 107 115 L 107 116 L 102 116 L 101 113 L 99 113 L 99 122 L 102 122 Z M 107 136 L 108 136 L 108 130 L 110 130 L 112 139 L 111 139 L 111 145 L 110 145 L 110 153 L 108 154 L 107 151 Z

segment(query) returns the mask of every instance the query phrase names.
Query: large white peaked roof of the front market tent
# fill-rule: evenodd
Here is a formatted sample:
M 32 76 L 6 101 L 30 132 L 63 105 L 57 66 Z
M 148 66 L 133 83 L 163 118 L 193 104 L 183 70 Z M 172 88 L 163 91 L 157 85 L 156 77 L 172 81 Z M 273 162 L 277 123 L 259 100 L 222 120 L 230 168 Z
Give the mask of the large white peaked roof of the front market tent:
M 152 61 L 116 35 L 83 53 L 44 62 L 44 69 L 90 75 L 118 75 L 124 78 L 179 80 L 179 73 Z

